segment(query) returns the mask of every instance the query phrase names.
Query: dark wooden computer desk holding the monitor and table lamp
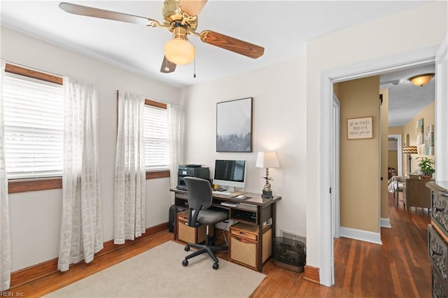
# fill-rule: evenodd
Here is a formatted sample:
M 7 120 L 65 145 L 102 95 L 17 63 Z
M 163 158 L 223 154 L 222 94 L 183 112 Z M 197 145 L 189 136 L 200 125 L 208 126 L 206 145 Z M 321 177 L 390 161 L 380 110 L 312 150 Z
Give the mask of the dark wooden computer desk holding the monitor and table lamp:
M 178 207 L 188 209 L 188 194 L 185 190 L 171 189 L 174 192 L 174 204 Z M 229 211 L 229 219 L 236 220 L 238 222 L 244 222 L 248 225 L 258 226 L 258 235 L 263 234 L 263 223 L 272 219 L 272 238 L 275 236 L 275 218 L 276 218 L 276 202 L 281 197 L 273 197 L 272 199 L 264 199 L 261 194 L 253 194 L 250 192 L 244 193 L 245 197 L 251 197 L 251 199 L 235 199 L 223 194 L 213 194 L 212 206 L 223 208 Z M 239 205 L 236 207 L 222 206 L 223 202 L 235 202 L 243 203 L 246 205 Z M 176 208 L 177 211 L 177 208 Z M 177 216 L 175 217 L 177 218 Z M 174 240 L 176 239 L 177 220 L 174 221 Z M 258 271 L 262 271 L 262 236 L 259 239 L 258 245 Z

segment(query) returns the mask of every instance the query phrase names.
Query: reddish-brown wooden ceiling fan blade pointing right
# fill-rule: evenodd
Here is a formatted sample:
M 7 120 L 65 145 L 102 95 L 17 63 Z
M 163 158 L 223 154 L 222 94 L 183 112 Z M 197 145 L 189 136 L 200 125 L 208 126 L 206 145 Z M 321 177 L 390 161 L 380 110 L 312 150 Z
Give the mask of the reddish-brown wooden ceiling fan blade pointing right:
M 233 38 L 215 31 L 202 31 L 200 37 L 201 41 L 203 41 L 204 43 L 216 45 L 219 48 L 231 50 L 232 52 L 236 52 L 253 59 L 261 57 L 265 53 L 265 48 L 260 47 L 260 45 L 254 45 L 253 43 L 240 41 L 237 38 Z

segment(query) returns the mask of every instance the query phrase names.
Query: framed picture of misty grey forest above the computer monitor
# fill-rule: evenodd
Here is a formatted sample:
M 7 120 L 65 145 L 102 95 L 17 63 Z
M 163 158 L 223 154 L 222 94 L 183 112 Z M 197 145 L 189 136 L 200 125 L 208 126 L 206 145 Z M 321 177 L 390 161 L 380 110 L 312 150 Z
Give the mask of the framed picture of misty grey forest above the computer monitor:
M 252 97 L 216 104 L 216 152 L 252 152 Z

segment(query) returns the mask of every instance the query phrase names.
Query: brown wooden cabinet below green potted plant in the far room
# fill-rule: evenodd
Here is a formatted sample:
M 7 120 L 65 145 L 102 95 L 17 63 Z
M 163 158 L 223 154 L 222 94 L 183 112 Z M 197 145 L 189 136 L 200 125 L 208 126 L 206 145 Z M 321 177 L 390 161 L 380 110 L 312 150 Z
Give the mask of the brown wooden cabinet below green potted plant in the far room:
M 409 207 L 431 208 L 430 190 L 426 179 L 406 179 L 406 209 Z

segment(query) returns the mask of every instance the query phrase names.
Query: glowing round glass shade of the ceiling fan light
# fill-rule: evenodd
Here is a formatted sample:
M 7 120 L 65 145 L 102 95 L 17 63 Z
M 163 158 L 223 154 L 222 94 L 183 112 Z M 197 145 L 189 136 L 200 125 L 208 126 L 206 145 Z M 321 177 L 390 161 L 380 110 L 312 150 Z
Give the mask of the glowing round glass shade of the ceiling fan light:
M 189 64 L 195 59 L 195 46 L 187 39 L 173 38 L 165 43 L 163 51 L 165 57 L 177 65 Z

